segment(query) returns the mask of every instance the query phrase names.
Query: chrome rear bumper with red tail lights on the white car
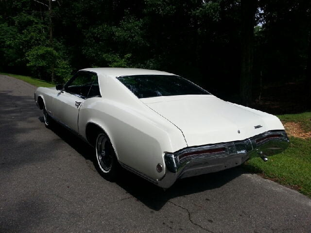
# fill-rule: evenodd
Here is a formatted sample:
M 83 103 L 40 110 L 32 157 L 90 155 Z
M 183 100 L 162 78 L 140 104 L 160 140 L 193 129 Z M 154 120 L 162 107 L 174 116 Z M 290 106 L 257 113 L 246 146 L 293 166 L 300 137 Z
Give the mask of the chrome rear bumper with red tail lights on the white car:
M 268 131 L 242 141 L 185 148 L 164 155 L 166 173 L 157 185 L 169 188 L 177 179 L 239 166 L 249 158 L 278 154 L 289 146 L 285 131 Z

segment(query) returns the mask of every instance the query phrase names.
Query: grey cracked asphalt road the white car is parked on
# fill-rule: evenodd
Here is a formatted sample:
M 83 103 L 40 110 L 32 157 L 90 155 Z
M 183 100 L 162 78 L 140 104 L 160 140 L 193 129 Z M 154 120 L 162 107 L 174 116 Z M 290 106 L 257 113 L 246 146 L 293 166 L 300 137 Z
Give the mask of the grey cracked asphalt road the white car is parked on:
M 236 167 L 163 191 L 110 183 L 93 149 L 44 126 L 35 86 L 0 75 L 0 233 L 311 233 L 311 200 Z

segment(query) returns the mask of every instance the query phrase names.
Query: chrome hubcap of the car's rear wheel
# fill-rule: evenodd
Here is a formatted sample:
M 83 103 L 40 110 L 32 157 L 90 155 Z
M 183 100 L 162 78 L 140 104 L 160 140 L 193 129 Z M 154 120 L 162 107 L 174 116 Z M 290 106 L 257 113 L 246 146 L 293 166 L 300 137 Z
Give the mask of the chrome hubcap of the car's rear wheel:
M 96 145 L 97 159 L 104 171 L 109 171 L 112 165 L 112 146 L 105 135 L 100 135 Z

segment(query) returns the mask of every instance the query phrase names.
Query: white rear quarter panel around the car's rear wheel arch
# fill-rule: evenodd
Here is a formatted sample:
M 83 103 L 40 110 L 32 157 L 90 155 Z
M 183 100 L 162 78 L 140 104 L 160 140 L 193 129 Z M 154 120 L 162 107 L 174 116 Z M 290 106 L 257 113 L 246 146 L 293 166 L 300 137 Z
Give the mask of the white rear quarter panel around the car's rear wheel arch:
M 165 174 L 164 152 L 180 150 L 187 144 L 171 122 L 147 106 L 141 107 L 103 98 L 88 99 L 80 109 L 79 133 L 86 137 L 88 122 L 99 125 L 108 134 L 121 163 L 156 180 Z M 156 171 L 158 163 L 163 166 L 161 173 Z

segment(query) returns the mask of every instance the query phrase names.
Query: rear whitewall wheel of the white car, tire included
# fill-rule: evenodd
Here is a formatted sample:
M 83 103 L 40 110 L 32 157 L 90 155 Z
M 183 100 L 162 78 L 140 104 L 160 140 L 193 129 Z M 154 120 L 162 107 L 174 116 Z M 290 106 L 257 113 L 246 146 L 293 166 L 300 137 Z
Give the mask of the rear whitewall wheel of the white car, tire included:
M 105 133 L 99 133 L 96 139 L 96 160 L 100 174 L 106 180 L 114 180 L 120 170 L 120 164 L 112 144 Z

